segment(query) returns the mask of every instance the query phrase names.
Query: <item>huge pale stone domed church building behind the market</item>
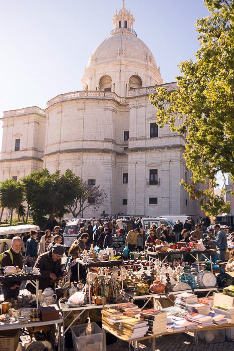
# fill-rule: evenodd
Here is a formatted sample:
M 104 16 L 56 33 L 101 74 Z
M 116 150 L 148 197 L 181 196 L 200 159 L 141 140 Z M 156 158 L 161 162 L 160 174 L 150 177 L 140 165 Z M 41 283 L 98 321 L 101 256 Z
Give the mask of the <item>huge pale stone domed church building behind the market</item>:
M 51 172 L 70 168 L 108 195 L 97 212 L 84 211 L 86 217 L 103 211 L 199 213 L 179 185 L 191 175 L 182 157 L 185 140 L 168 126 L 157 127 L 149 94 L 163 80 L 133 23 L 123 2 L 113 31 L 85 68 L 83 91 L 56 96 L 46 110 L 28 107 L 4 113 L 0 180 L 20 179 L 42 167 Z

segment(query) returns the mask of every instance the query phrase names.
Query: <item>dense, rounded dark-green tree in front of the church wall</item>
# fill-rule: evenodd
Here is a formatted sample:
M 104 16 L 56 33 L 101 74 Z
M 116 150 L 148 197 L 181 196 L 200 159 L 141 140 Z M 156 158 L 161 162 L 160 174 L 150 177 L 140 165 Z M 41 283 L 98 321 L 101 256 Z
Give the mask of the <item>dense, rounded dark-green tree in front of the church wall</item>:
M 48 169 L 41 169 L 22 178 L 22 182 L 32 217 L 40 226 L 66 213 L 66 207 L 81 192 L 80 179 L 70 169 L 65 174 L 60 174 L 59 170 L 50 174 Z

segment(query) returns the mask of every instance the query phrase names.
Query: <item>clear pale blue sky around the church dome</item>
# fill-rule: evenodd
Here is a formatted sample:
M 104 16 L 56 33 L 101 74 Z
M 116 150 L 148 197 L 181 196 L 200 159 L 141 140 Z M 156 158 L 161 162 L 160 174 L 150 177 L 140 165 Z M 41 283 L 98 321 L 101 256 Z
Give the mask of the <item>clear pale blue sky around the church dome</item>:
M 199 49 L 195 22 L 208 15 L 203 0 L 126 0 L 125 7 L 164 83 L 175 81 L 179 61 L 194 59 Z M 122 0 L 1 0 L 1 117 L 3 111 L 46 108 L 56 95 L 82 90 L 89 57 L 121 8 Z

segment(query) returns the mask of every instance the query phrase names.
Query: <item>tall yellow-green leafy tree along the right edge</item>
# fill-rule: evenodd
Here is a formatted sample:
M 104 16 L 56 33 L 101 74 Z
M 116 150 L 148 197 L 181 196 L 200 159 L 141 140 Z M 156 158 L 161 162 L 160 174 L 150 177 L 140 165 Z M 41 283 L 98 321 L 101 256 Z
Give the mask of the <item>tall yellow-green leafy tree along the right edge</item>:
M 210 15 L 196 22 L 196 61 L 180 62 L 178 89 L 159 87 L 150 101 L 158 110 L 160 127 L 168 123 L 172 131 L 185 135 L 184 158 L 193 175 L 181 185 L 208 215 L 216 216 L 230 208 L 225 189 L 221 196 L 214 194 L 217 172 L 229 173 L 234 182 L 234 1 L 204 3 Z

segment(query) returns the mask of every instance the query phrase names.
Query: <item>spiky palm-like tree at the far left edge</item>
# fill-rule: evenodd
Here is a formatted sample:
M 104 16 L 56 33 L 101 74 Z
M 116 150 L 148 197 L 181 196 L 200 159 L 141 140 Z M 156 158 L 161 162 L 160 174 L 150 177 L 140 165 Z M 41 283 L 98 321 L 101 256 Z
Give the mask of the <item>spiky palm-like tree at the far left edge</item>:
M 20 182 L 13 179 L 1 182 L 0 187 L 0 201 L 2 208 L 11 209 L 10 225 L 12 224 L 12 217 L 14 209 L 17 209 L 18 219 L 20 221 L 19 208 L 24 200 L 24 186 Z M 1 217 L 2 219 L 2 217 Z

